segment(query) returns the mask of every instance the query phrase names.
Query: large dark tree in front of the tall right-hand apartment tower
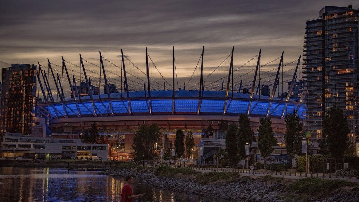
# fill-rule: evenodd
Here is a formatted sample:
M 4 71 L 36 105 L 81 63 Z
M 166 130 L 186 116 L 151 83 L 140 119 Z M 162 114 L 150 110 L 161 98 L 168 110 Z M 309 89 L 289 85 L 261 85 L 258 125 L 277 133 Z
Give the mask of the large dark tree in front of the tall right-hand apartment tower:
M 335 170 L 336 160 L 342 158 L 344 151 L 348 148 L 349 125 L 348 119 L 344 117 L 343 110 L 336 105 L 329 108 L 323 119 L 323 132 L 326 137 L 328 150 L 334 157 Z

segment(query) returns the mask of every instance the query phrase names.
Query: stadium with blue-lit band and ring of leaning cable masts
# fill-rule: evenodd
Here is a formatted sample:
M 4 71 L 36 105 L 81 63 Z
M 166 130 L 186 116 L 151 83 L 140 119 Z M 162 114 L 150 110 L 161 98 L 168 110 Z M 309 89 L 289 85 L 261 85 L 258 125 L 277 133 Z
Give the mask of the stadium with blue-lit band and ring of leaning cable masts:
M 261 65 L 260 50 L 246 64 L 236 67 L 233 65 L 233 50 L 234 47 L 219 66 L 205 75 L 203 47 L 194 72 L 184 82 L 183 89 L 178 85 L 174 48 L 172 83 L 162 76 L 149 57 L 147 48 L 144 71 L 122 50 L 121 65 L 118 66 L 104 58 L 101 52 L 99 66 L 81 55 L 80 65 L 64 58 L 62 66 L 48 61 L 48 66 L 39 64 L 39 97 L 42 94 L 44 102 L 37 104 L 37 113 L 47 117 L 52 137 L 78 138 L 96 123 L 99 134 L 111 144 L 110 156 L 114 159 L 130 158 L 134 133 L 143 124 L 157 123 L 162 127 L 164 137 L 156 144 L 157 149 L 172 148 L 178 128 L 185 133 L 191 130 L 198 146 L 209 125 L 214 129 L 211 138 L 223 139 L 224 134 L 218 130 L 218 124 L 221 120 L 237 122 L 240 114 L 248 114 L 255 133 L 260 119 L 270 117 L 275 136 L 279 144 L 283 143 L 285 115 L 297 110 L 302 121 L 306 116 L 302 97 L 291 99 L 300 69 L 300 57 L 284 64 L 282 53 L 280 57 Z M 113 68 L 111 71 L 109 66 L 121 73 L 113 71 Z M 57 79 L 54 71 L 57 71 Z M 60 78 L 59 73 L 64 76 Z M 49 83 L 51 77 L 53 83 Z M 287 83 L 288 93 L 285 93 L 283 85 Z M 104 88 L 102 92 L 101 85 Z M 56 86 L 56 91 L 52 89 L 54 93 L 50 86 Z M 276 93 L 277 97 L 274 96 Z M 56 97 L 60 101 L 56 102 Z

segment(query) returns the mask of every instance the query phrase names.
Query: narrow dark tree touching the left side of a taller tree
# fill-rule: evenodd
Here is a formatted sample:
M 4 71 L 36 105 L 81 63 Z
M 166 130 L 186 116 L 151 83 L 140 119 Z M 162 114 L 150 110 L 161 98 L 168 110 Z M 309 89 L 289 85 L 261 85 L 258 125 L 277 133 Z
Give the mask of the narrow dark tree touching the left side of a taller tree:
M 238 161 L 236 123 L 231 123 L 227 128 L 227 132 L 225 135 L 225 147 L 228 153 L 228 158 L 233 164 L 235 164 Z

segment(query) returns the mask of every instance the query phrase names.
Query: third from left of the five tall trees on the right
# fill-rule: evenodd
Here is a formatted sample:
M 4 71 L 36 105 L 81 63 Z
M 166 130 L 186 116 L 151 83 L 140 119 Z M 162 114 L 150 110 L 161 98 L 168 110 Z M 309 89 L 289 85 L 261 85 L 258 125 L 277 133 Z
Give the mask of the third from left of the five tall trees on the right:
M 274 146 L 276 142 L 277 140 L 274 137 L 271 118 L 261 118 L 258 129 L 258 149 L 261 152 L 261 156 L 264 158 L 264 165 L 266 163 L 266 158 L 269 157 L 274 150 L 272 146 Z

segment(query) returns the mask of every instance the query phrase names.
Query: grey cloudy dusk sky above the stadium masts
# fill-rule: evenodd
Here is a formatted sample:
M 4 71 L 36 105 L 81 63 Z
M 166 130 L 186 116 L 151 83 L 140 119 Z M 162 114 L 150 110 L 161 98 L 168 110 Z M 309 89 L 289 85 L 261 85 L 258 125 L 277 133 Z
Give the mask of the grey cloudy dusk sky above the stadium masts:
M 284 51 L 303 52 L 305 22 L 336 0 L 202 1 L 5 1 L 0 0 L 0 67 L 9 64 L 79 64 L 79 53 L 98 64 L 98 51 L 120 65 L 121 49 L 145 67 L 145 47 L 165 77 L 172 74 L 172 46 L 179 77 L 188 77 L 205 46 L 204 66 L 219 65 L 234 46 L 240 66 L 262 48 L 262 64 Z M 355 5 L 358 7 L 359 5 Z M 177 72 L 178 73 L 178 72 Z

